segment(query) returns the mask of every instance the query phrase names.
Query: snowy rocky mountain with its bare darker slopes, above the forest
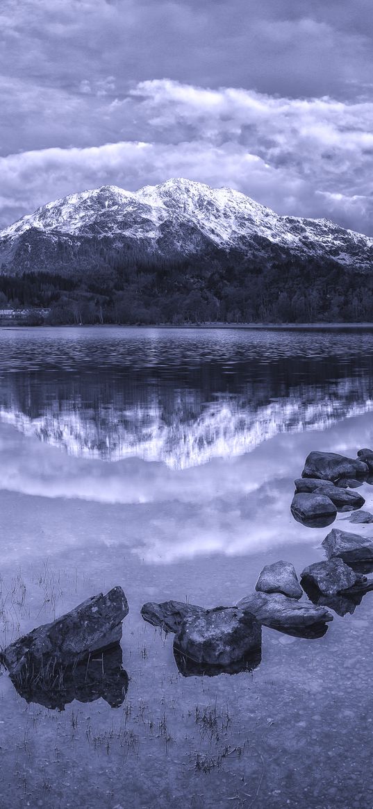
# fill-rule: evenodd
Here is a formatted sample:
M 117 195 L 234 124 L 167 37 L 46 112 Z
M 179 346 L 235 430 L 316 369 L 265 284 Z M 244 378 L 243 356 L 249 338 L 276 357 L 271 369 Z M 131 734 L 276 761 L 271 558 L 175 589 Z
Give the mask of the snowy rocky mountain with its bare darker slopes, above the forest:
M 365 273 L 373 239 L 325 219 L 278 216 L 229 188 L 174 179 L 132 193 L 116 186 L 49 202 L 0 233 L 2 273 L 96 272 L 108 253 L 164 260 L 235 252 L 265 262 L 299 256 Z

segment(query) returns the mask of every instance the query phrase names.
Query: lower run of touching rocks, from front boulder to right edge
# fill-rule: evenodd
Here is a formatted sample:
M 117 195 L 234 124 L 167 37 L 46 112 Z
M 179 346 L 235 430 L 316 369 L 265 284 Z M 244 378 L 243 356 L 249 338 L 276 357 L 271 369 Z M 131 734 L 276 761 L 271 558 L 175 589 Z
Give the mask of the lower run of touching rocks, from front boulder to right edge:
M 142 607 L 144 621 L 175 633 L 173 651 L 184 676 L 252 670 L 261 662 L 261 626 L 295 637 L 324 635 L 332 612 L 354 612 L 373 590 L 373 540 L 333 529 L 322 543 L 327 560 L 308 565 L 297 577 L 288 561 L 265 565 L 255 592 L 235 607 L 204 609 L 165 601 Z M 310 602 L 300 601 L 303 592 Z

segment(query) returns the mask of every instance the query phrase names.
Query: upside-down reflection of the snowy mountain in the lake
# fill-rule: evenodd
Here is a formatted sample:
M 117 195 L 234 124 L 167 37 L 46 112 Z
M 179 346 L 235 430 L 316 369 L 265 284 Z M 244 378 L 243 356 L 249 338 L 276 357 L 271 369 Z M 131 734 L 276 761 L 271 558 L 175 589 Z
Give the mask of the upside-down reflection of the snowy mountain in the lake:
M 173 388 L 163 380 L 105 383 L 10 376 L 2 382 L 0 421 L 69 455 L 141 458 L 183 469 L 252 451 L 279 433 L 324 430 L 373 409 L 373 379 L 324 384 L 258 381 L 230 392 Z M 210 399 L 210 400 L 209 400 Z

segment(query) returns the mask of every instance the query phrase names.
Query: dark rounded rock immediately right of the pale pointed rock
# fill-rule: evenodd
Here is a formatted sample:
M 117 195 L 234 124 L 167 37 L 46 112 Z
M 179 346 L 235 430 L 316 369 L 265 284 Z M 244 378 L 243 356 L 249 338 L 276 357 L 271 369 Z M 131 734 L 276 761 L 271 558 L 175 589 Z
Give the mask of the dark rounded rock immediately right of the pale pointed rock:
M 317 561 L 315 564 L 305 567 L 301 575 L 301 582 L 306 592 L 307 588 L 316 587 L 321 595 L 336 595 L 350 587 L 367 582 L 367 578 L 355 573 L 338 557 L 328 561 Z

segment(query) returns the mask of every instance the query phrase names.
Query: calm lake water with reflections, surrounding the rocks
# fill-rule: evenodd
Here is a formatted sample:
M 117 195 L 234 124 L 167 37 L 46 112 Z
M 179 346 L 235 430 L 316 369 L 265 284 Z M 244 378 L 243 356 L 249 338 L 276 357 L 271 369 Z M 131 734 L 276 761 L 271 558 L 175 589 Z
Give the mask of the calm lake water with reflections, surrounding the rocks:
M 129 601 L 121 704 L 82 687 L 48 708 L 2 670 L 0 805 L 373 806 L 371 593 L 324 637 L 263 628 L 236 675 L 183 676 L 140 614 L 229 606 L 265 564 L 323 559 L 295 477 L 312 450 L 361 447 L 370 330 L 0 329 L 0 642 L 116 585 Z

